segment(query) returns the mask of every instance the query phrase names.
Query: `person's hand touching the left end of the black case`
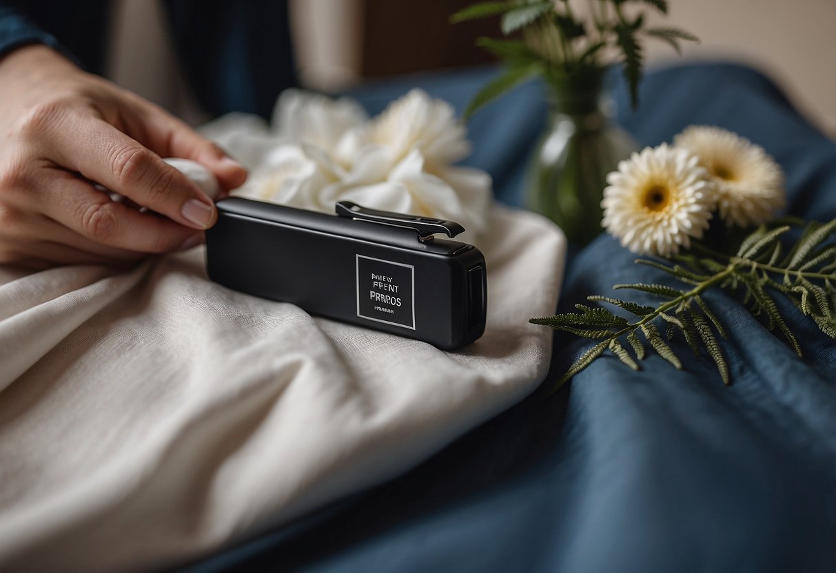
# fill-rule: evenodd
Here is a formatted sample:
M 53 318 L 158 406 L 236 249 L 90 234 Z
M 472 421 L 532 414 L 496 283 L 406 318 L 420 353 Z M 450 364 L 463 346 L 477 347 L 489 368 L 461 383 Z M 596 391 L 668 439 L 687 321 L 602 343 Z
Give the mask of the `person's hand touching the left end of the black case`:
M 0 59 L 0 102 L 0 263 L 120 263 L 198 244 L 217 210 L 161 156 L 205 165 L 222 192 L 247 178 L 179 119 L 45 46 Z

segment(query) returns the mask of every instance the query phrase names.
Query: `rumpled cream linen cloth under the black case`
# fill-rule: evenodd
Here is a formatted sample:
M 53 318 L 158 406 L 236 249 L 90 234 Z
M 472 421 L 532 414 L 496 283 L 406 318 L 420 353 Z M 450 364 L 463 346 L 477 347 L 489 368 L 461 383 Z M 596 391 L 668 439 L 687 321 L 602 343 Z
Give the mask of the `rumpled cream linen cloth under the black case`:
M 497 207 L 460 352 L 209 281 L 203 247 L 115 274 L 0 267 L 0 570 L 147 570 L 410 469 L 540 383 L 565 241 Z M 291 246 L 285 248 L 292 248 Z

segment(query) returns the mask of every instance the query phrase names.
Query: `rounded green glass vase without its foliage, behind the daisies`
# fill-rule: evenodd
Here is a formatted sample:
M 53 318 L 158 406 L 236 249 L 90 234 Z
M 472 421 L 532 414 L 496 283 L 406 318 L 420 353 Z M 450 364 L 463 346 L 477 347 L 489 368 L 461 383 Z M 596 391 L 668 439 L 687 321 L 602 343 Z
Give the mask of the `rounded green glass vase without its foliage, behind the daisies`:
M 615 124 L 602 73 L 548 79 L 548 129 L 535 148 L 529 207 L 558 224 L 574 246 L 601 231 L 606 177 L 638 149 Z

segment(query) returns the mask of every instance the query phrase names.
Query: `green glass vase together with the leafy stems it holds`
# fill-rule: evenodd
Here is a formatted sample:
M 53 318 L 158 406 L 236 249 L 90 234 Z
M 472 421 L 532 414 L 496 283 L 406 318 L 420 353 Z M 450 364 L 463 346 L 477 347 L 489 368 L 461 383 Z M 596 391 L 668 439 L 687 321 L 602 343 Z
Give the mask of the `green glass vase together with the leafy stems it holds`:
M 537 147 L 528 202 L 563 227 L 569 241 L 583 246 L 601 230 L 606 175 L 636 149 L 602 104 L 604 68 L 621 65 L 635 108 L 641 38 L 669 43 L 677 53 L 682 41 L 697 38 L 679 28 L 645 26 L 645 11 L 666 14 L 667 0 L 589 0 L 586 10 L 576 8 L 569 0 L 482 2 L 453 14 L 451 22 L 499 16 L 507 37 L 477 39 L 505 65 L 473 96 L 464 119 L 529 79 L 539 76 L 548 86 L 551 117 Z

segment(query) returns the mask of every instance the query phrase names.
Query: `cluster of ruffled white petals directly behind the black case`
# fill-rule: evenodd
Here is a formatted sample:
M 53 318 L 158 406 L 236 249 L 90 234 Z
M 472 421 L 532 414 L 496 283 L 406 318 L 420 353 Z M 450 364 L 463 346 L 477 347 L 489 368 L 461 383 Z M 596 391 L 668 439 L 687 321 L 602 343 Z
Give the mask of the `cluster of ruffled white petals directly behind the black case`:
M 334 203 L 456 221 L 478 246 L 492 200 L 482 170 L 452 165 L 470 154 L 450 104 L 414 89 L 369 119 L 351 99 L 290 89 L 268 126 L 232 114 L 206 125 L 251 170 L 235 195 L 334 212 Z

